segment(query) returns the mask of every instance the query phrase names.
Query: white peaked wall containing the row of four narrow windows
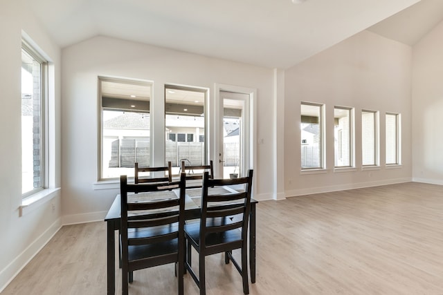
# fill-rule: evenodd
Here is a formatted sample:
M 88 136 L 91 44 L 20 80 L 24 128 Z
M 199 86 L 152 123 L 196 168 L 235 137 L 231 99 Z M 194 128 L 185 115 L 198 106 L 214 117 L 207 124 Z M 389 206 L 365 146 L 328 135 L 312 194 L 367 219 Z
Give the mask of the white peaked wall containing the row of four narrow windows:
M 287 196 L 405 182 L 411 179 L 412 48 L 363 31 L 285 72 L 284 176 Z M 325 104 L 326 171 L 300 173 L 300 102 Z M 334 172 L 334 106 L 355 108 L 354 171 Z M 361 109 L 380 112 L 380 162 L 361 169 Z M 385 114 L 401 113 L 401 167 L 387 169 Z

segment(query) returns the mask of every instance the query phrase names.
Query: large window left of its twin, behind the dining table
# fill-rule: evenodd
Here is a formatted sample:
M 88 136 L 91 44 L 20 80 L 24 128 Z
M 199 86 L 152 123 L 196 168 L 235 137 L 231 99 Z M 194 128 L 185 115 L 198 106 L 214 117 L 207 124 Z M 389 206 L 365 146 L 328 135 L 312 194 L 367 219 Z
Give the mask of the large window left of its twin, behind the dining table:
M 99 77 L 99 180 L 134 176 L 134 163 L 150 166 L 150 82 Z

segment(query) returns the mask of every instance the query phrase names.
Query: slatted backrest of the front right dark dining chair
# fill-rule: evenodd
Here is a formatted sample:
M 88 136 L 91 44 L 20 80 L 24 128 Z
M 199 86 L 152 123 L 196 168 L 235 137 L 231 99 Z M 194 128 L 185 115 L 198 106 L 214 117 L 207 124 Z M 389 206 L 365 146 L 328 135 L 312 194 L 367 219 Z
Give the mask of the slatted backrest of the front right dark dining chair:
M 201 247 L 206 247 L 205 241 L 208 235 L 233 229 L 242 229 L 242 240 L 234 241 L 238 243 L 238 247 L 242 247 L 242 242 L 247 241 L 252 180 L 252 169 L 248 171 L 247 176 L 234 179 L 211 179 L 208 172 L 204 173 L 201 188 Z M 242 187 L 242 189 L 227 190 L 225 187 L 228 186 Z

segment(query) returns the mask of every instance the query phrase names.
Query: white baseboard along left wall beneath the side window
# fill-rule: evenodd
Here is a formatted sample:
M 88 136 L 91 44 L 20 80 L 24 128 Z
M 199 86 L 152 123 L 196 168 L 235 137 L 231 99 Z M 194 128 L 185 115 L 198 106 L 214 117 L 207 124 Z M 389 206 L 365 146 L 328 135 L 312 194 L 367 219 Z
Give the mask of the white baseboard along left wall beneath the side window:
M 53 238 L 57 231 L 62 228 L 62 220 L 57 218 L 53 224 L 34 240 L 24 251 L 0 271 L 0 293 L 9 283 L 24 269 L 26 265 L 39 253 L 41 249 Z

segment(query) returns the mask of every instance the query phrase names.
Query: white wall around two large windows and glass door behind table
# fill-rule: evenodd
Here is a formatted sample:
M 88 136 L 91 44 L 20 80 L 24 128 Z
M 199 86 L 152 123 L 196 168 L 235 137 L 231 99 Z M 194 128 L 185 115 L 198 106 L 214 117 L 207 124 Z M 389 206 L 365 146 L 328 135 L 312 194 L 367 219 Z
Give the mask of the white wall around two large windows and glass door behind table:
M 100 220 L 118 193 L 94 189 L 98 163 L 97 77 L 117 76 L 153 81 L 154 99 L 165 84 L 210 88 L 215 83 L 257 88 L 257 148 L 254 198 L 272 198 L 273 70 L 109 37 L 94 37 L 62 52 L 62 212 L 64 222 Z M 156 99 L 153 111 L 161 111 Z M 157 108 L 158 106 L 158 108 Z M 215 111 L 213 106 L 211 111 Z M 155 128 L 155 127 L 154 127 Z M 161 129 L 160 129 L 161 130 Z M 213 159 L 217 160 L 217 159 Z M 112 187 L 112 186 L 111 186 Z

